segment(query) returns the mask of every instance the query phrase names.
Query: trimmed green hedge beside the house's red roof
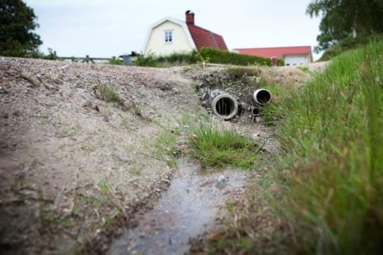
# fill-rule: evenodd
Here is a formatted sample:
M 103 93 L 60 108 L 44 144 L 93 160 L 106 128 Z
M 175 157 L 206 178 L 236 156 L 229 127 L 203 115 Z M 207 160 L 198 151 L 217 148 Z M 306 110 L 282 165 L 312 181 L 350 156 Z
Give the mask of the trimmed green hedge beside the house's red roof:
M 209 58 L 211 63 L 231 64 L 237 66 L 250 66 L 261 65 L 270 66 L 271 60 L 269 58 L 262 58 L 260 56 L 242 55 L 229 51 L 221 51 L 219 49 L 202 48 L 200 49 L 202 58 Z

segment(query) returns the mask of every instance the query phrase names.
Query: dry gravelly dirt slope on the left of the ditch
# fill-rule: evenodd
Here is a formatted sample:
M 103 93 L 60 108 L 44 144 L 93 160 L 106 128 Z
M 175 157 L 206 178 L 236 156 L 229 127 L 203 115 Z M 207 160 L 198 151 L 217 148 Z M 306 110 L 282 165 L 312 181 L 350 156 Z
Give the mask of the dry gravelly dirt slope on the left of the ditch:
M 112 218 L 129 222 L 166 187 L 155 141 L 202 111 L 181 73 L 0 58 L 2 253 L 92 252 L 85 244 L 102 244 Z M 99 85 L 124 106 L 97 98 Z

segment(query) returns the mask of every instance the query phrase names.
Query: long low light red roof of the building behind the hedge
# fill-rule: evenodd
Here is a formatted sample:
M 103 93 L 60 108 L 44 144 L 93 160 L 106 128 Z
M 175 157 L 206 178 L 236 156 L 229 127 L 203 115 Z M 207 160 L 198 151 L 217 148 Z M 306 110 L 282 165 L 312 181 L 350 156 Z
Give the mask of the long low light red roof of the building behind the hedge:
M 291 46 L 291 47 L 274 47 L 274 48 L 250 48 L 235 49 L 239 54 L 247 54 L 253 56 L 262 56 L 264 58 L 284 58 L 285 55 L 307 55 L 311 54 L 311 46 Z

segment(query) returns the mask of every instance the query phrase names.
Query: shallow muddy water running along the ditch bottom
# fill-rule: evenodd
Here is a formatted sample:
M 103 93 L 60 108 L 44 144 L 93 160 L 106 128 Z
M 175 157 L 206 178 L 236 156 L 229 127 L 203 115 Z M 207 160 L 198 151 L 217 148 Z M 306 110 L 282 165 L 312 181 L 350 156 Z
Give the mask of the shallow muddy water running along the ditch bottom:
M 212 230 L 220 209 L 231 194 L 241 191 L 246 178 L 244 172 L 233 170 L 202 175 L 186 159 L 179 160 L 178 166 L 169 190 L 154 209 L 116 240 L 108 254 L 183 254 L 190 237 Z M 222 189 L 216 185 L 220 175 L 226 177 Z

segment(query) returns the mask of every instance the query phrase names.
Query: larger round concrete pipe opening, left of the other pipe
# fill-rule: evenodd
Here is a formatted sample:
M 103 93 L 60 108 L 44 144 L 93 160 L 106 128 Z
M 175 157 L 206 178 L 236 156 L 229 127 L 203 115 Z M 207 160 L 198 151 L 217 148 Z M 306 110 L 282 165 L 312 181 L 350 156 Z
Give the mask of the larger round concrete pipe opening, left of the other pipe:
M 230 120 L 238 113 L 238 102 L 229 94 L 220 94 L 214 97 L 212 110 L 219 118 Z

